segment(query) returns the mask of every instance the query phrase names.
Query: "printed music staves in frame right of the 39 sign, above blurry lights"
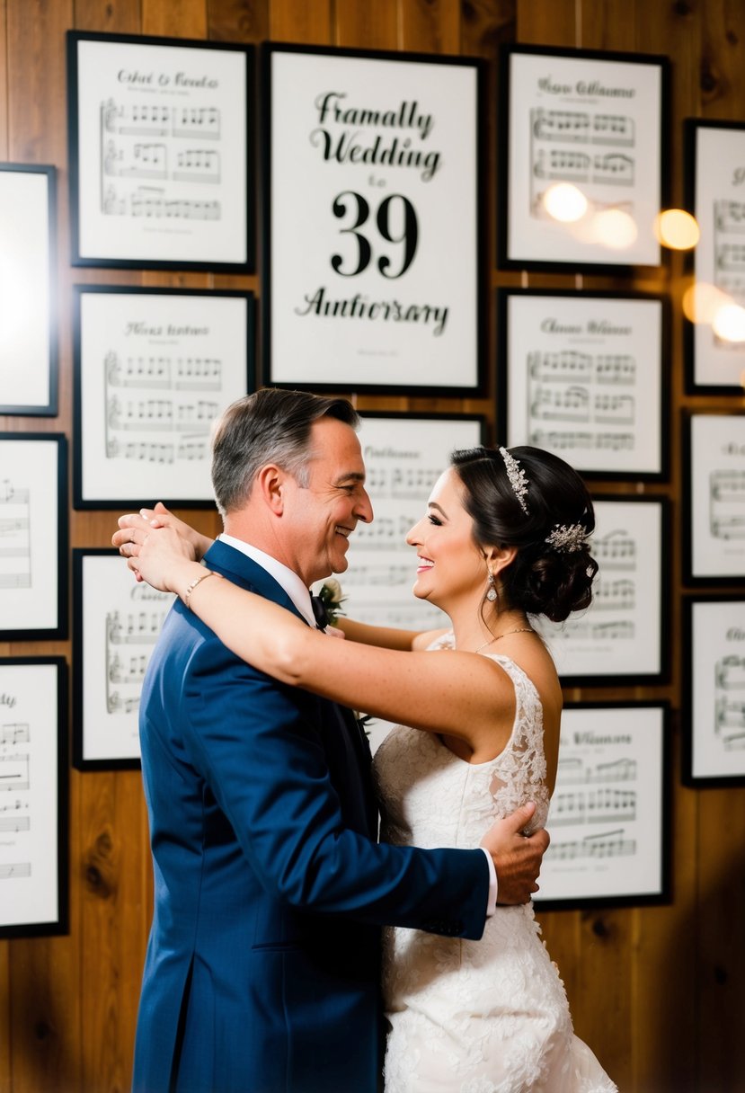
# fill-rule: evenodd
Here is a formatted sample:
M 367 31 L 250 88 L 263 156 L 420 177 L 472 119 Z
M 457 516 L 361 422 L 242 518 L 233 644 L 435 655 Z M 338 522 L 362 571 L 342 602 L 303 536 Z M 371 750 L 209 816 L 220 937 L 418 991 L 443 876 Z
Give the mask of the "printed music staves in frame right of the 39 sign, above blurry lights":
M 549 220 L 543 199 L 555 183 L 579 187 L 594 209 L 634 215 L 624 188 L 636 184 L 636 122 L 624 114 L 593 109 L 530 111 L 531 215 Z M 615 192 L 619 189 L 620 192 Z

